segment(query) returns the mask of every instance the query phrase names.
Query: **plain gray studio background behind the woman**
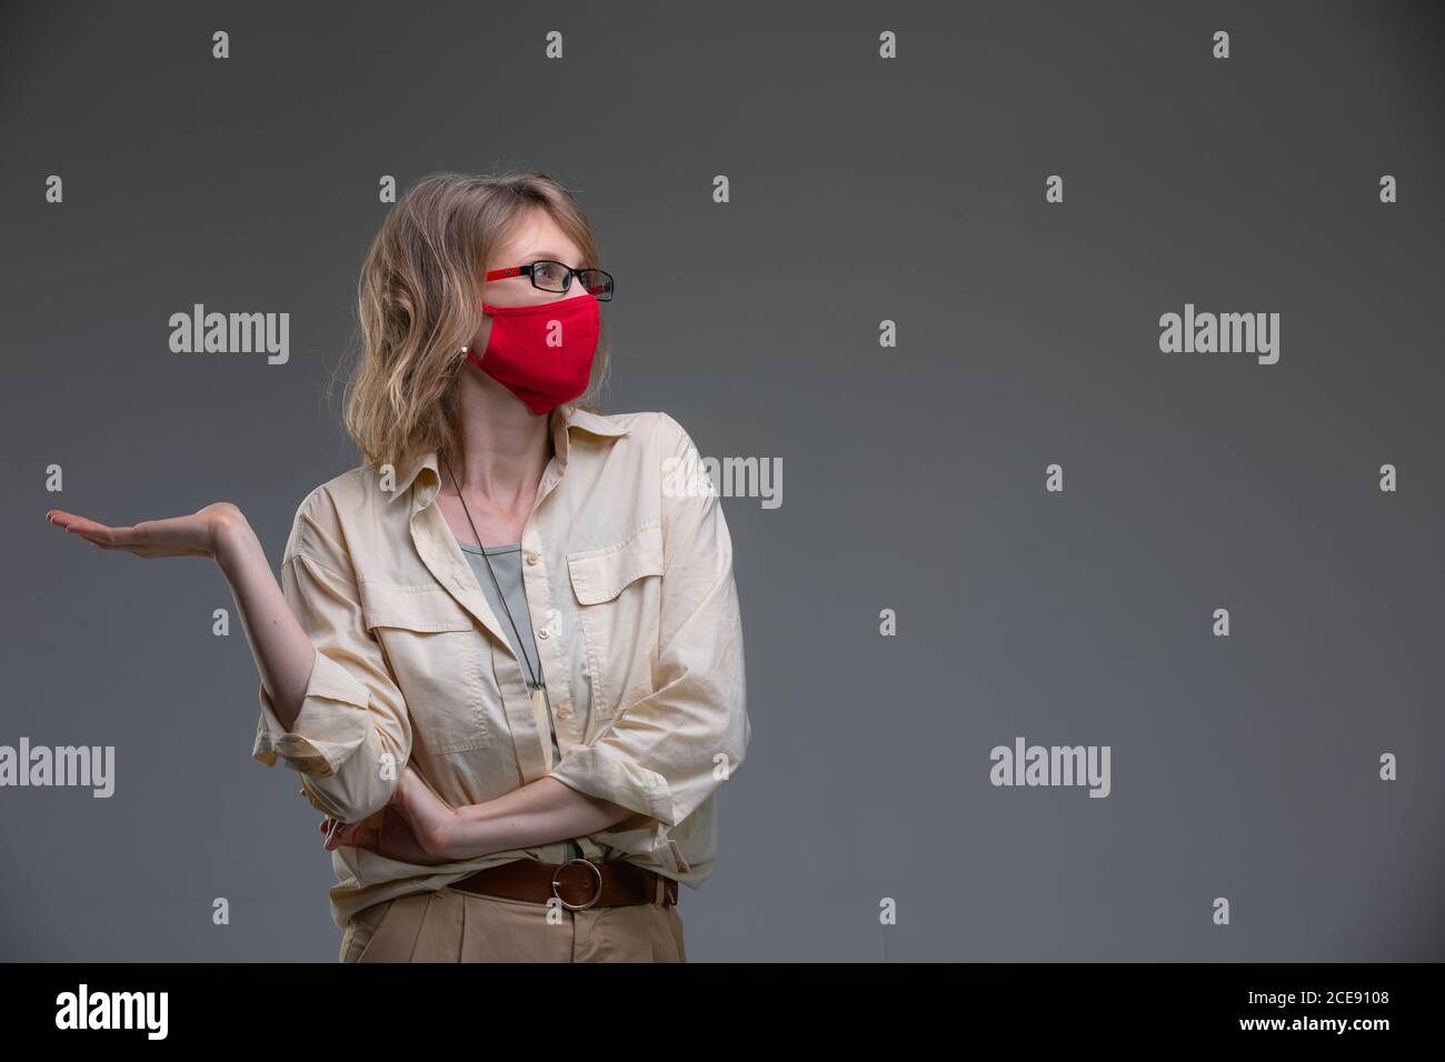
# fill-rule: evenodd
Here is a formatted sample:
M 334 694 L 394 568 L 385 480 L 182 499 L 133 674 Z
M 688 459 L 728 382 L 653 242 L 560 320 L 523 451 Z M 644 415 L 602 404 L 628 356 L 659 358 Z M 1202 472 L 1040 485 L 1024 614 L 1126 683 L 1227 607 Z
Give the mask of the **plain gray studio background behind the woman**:
M 220 571 L 42 514 L 231 500 L 275 564 L 358 464 L 325 386 L 379 176 L 527 168 L 618 277 L 607 409 L 783 461 L 724 503 L 753 744 L 689 958 L 1445 958 L 1441 42 L 1402 3 L 7 3 L 0 743 L 118 779 L 0 789 L 0 957 L 335 959 Z M 290 363 L 172 354 L 194 302 L 289 312 Z M 1160 354 L 1185 302 L 1279 312 L 1279 364 Z M 1111 746 L 1113 795 L 993 787 L 1017 734 Z

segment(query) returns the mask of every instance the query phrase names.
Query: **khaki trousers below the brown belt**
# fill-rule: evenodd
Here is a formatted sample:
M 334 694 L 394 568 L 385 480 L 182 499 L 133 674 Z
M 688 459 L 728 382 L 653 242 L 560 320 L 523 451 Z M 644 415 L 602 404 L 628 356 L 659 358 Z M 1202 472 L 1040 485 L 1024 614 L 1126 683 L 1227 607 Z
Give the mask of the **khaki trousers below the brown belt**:
M 548 912 L 558 912 L 548 920 Z M 686 962 L 676 905 L 568 910 L 454 889 L 351 916 L 338 962 Z

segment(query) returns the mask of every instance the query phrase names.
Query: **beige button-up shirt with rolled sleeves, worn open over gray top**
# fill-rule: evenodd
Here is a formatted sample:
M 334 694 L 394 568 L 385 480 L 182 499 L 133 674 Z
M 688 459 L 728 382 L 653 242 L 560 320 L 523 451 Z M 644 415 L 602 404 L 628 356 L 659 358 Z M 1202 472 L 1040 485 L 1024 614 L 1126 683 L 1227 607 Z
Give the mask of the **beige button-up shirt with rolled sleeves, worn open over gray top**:
M 436 452 L 353 468 L 302 500 L 280 575 L 316 663 L 290 731 L 260 686 L 251 756 L 296 770 L 311 805 L 345 822 L 377 815 L 407 763 L 452 806 L 551 773 L 636 812 L 577 838 L 584 855 L 695 889 L 750 737 L 722 506 L 705 474 L 688 475 L 698 452 L 666 413 L 561 406 L 551 431 L 522 551 L 561 761 L 548 770 L 551 734 L 507 618 L 436 504 Z M 509 860 L 568 857 L 565 839 L 438 865 L 340 845 L 332 919 Z

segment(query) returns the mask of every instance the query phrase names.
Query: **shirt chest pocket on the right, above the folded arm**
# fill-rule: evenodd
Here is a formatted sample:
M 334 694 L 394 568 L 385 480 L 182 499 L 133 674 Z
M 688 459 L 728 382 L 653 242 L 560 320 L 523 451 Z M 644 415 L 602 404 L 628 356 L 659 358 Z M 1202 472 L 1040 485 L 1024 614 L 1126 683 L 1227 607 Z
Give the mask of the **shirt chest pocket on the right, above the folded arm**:
M 662 614 L 662 524 L 600 549 L 566 555 L 578 621 L 587 643 L 592 711 L 610 718 L 653 692 Z

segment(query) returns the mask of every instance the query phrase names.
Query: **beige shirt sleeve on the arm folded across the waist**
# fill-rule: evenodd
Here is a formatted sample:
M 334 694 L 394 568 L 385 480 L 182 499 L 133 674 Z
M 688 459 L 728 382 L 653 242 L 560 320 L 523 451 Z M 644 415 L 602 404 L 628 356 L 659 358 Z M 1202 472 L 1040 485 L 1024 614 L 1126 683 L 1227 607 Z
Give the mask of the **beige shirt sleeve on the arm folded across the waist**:
M 696 461 L 682 426 L 662 419 L 669 432 L 662 455 Z M 572 789 L 669 828 L 738 770 L 750 738 L 733 543 L 717 491 L 707 487 L 663 497 L 656 689 L 552 770 Z

